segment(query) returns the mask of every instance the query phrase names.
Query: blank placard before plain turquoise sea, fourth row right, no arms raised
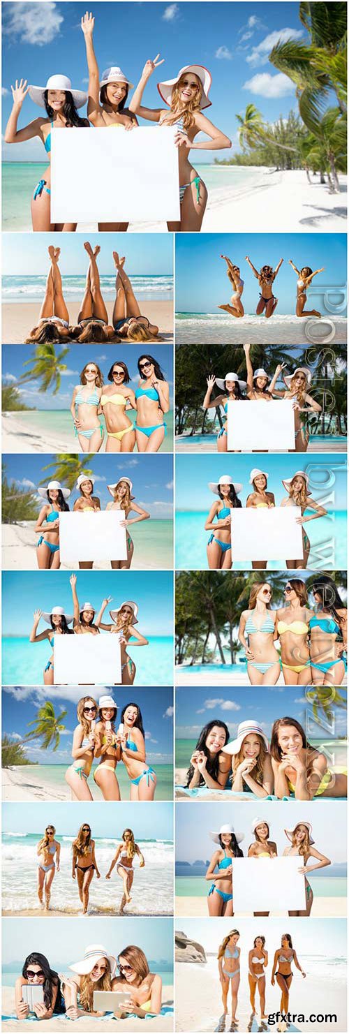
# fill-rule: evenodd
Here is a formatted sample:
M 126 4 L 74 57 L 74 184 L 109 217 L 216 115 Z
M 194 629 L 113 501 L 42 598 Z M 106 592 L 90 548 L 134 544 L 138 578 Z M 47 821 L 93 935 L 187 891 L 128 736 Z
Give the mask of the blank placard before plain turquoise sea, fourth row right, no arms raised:
M 300 507 L 230 510 L 234 560 L 302 560 Z

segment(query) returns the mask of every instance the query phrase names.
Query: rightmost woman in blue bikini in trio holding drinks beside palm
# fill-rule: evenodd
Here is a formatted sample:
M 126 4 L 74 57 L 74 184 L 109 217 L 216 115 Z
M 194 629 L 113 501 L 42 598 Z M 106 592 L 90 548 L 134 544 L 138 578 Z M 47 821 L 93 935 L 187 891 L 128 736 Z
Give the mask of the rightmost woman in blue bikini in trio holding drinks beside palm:
M 130 780 L 130 800 L 154 800 L 157 777 L 146 760 L 146 733 L 138 704 L 126 704 L 122 710 L 117 741 Z

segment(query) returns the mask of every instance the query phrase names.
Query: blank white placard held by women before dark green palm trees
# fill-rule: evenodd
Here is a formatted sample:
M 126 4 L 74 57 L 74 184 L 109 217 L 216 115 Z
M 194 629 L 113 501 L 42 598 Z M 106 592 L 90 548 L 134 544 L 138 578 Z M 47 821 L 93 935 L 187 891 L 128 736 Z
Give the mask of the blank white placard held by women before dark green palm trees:
M 252 449 L 294 449 L 294 412 L 291 399 L 272 402 L 228 402 L 228 452 Z

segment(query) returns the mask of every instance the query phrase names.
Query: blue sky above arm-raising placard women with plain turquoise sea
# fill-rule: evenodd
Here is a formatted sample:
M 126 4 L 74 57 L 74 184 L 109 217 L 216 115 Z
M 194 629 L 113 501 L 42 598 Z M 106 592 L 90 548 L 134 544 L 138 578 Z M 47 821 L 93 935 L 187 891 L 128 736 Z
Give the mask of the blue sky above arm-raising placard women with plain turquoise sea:
M 117 574 L 117 578 L 115 577 Z M 126 578 L 125 578 L 126 575 Z M 147 636 L 172 634 L 172 576 L 165 571 L 80 571 L 76 582 L 81 601 L 91 600 L 100 607 L 104 597 L 110 596 L 115 606 L 123 600 L 135 600 L 139 607 L 139 631 Z M 27 636 L 33 625 L 36 608 L 51 612 L 53 606 L 65 608 L 71 614 L 71 588 L 69 575 L 57 571 L 55 585 L 49 585 L 44 571 L 7 572 L 2 576 L 3 635 Z M 39 631 L 45 628 L 41 618 Z

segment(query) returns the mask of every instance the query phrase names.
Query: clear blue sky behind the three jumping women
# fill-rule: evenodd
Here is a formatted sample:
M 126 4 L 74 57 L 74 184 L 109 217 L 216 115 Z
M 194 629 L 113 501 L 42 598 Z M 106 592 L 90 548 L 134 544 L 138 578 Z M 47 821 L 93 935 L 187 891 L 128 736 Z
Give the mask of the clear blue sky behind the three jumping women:
M 308 292 L 311 307 L 319 307 L 328 315 L 346 314 L 345 234 L 178 234 L 178 312 L 217 314 L 217 306 L 230 300 L 232 288 L 221 254 L 229 255 L 241 268 L 241 276 L 245 280 L 243 303 L 247 313 L 256 311 L 259 300 L 258 280 L 245 262 L 245 256 L 249 255 L 257 270 L 266 263 L 275 269 L 280 258 L 284 258 L 274 287 L 275 296 L 279 298 L 277 313 L 295 311 L 296 275 L 288 265 L 288 260 L 292 258 L 297 269 L 303 266 L 310 266 L 312 270 L 325 268 L 324 273 L 314 278 L 313 286 Z

